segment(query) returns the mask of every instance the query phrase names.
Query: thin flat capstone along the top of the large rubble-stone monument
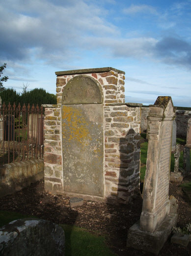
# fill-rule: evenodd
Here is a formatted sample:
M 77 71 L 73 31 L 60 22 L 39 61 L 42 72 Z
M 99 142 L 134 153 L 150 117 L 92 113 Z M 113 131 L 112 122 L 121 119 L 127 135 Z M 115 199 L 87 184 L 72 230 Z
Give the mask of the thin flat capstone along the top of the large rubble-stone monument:
M 55 72 L 56 75 L 66 75 L 66 74 L 84 74 L 84 73 L 104 73 L 109 71 L 115 71 L 116 73 L 125 74 L 124 71 L 117 70 L 114 68 L 97 68 L 97 69 L 83 69 L 83 70 L 68 70 L 68 71 L 58 71 Z

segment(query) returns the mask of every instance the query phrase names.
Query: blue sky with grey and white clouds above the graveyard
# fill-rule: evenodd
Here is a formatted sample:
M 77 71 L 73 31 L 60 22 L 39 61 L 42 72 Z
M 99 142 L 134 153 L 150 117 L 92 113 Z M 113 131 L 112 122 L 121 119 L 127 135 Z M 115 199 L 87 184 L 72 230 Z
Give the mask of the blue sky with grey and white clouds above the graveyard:
M 124 71 L 126 102 L 191 107 L 191 0 L 3 0 L 5 87 L 55 94 L 56 71 Z

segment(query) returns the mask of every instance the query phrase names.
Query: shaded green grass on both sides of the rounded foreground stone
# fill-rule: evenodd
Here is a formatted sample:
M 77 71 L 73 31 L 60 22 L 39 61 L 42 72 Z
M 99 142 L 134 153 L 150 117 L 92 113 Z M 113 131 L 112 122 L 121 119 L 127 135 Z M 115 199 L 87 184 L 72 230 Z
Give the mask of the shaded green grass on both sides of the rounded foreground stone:
M 23 214 L 0 211 L 0 226 L 15 219 L 35 218 Z M 98 233 L 71 225 L 60 225 L 65 233 L 65 256 L 114 256 L 106 245 L 106 238 Z

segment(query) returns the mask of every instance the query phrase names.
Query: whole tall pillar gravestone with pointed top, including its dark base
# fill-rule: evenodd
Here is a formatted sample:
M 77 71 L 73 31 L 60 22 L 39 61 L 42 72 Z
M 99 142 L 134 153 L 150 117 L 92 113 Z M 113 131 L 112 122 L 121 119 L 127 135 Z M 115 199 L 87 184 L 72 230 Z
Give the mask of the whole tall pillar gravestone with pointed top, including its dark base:
M 158 254 L 176 225 L 168 200 L 172 121 L 175 109 L 171 97 L 159 96 L 149 106 L 148 152 L 140 220 L 128 230 L 127 247 Z

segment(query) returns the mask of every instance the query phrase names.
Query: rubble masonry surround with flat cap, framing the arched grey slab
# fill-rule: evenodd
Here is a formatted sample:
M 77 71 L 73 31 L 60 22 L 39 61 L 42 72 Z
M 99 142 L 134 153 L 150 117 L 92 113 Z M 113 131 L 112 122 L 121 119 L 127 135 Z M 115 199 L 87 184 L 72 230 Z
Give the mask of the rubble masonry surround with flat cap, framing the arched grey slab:
M 84 199 L 127 203 L 138 190 L 140 167 L 140 107 L 125 104 L 124 72 L 113 68 L 56 72 L 57 105 L 45 111 L 45 189 L 64 193 L 61 104 L 64 87 L 77 76 L 88 76 L 103 91 L 104 196 Z M 56 115 L 55 115 L 56 113 Z M 72 193 L 70 193 L 72 195 Z

